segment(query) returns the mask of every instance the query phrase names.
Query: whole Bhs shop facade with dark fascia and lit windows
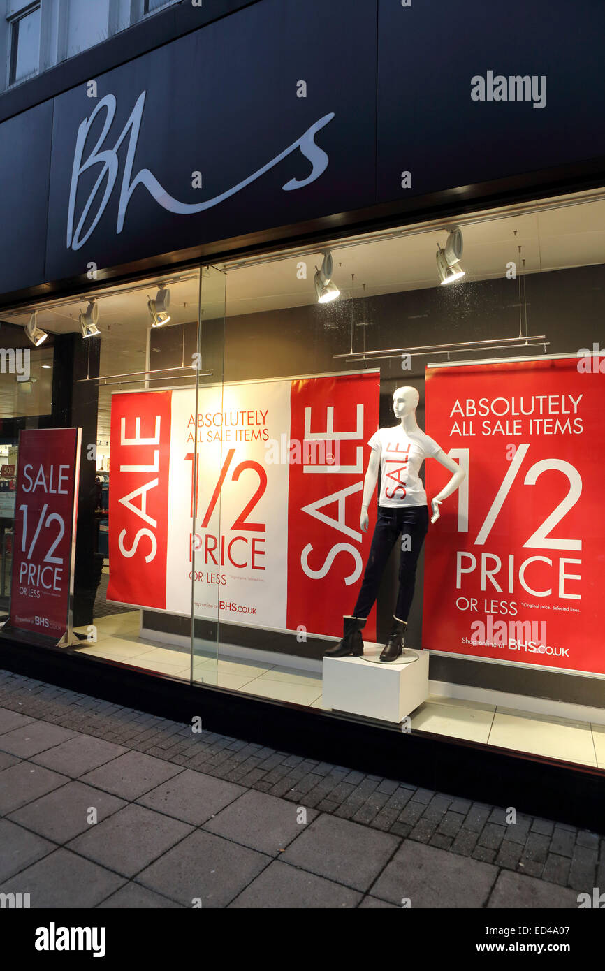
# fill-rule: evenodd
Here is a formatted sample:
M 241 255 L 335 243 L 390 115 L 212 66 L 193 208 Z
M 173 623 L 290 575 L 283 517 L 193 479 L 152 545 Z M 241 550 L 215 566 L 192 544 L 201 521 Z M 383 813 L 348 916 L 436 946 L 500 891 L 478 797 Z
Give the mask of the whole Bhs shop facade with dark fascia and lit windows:
M 557 6 L 8 4 L 2 663 L 597 818 L 605 23 Z

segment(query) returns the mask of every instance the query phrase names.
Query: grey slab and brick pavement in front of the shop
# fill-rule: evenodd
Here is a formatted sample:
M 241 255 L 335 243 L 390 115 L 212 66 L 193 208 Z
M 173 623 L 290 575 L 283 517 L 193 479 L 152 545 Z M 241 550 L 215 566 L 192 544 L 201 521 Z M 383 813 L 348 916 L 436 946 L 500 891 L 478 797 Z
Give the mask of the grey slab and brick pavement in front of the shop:
M 0 893 L 32 908 L 565 908 L 605 836 L 0 671 Z

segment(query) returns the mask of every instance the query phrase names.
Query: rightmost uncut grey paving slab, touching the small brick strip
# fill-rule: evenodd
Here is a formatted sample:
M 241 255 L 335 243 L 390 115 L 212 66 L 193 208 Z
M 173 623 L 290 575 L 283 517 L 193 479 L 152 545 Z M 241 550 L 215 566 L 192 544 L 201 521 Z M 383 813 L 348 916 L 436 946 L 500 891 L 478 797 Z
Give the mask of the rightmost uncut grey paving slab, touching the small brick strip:
M 367 890 L 399 842 L 389 833 L 322 814 L 294 840 L 281 859 L 336 883 Z

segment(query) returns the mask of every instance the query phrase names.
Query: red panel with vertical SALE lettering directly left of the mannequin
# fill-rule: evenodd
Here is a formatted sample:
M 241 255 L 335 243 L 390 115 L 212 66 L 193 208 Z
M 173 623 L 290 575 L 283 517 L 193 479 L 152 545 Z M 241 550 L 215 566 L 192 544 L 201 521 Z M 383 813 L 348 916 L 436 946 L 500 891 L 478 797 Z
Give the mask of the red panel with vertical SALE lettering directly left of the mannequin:
M 342 637 L 374 530 L 372 522 L 360 531 L 359 512 L 367 442 L 378 427 L 379 377 L 294 381 L 290 404 L 291 438 L 305 443 L 307 454 L 289 474 L 287 628 Z M 376 637 L 375 608 L 364 637 Z

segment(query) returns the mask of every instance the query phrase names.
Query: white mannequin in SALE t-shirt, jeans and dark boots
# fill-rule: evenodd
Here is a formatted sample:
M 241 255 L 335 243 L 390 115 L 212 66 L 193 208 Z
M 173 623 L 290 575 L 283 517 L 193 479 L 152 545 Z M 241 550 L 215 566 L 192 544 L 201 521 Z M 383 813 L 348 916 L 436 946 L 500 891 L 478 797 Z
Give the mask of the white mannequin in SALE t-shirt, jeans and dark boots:
M 393 414 L 399 424 L 379 428 L 368 442 L 372 452 L 363 484 L 359 527 L 367 532 L 368 507 L 380 469 L 378 519 L 353 615 L 343 618 L 343 638 L 324 652 L 326 657 L 363 654 L 361 630 L 376 600 L 387 559 L 400 536 L 399 592 L 390 634 L 380 659 L 394 661 L 403 653 L 403 638 L 414 596 L 416 566 L 428 530 L 426 493 L 419 478 L 420 465 L 425 457 L 431 457 L 452 472 L 450 482 L 431 502 L 430 521 L 433 523 L 439 519 L 441 503 L 452 495 L 465 475 L 454 460 L 420 429 L 416 420 L 419 401 L 420 394 L 415 387 L 396 388 L 393 393 Z

